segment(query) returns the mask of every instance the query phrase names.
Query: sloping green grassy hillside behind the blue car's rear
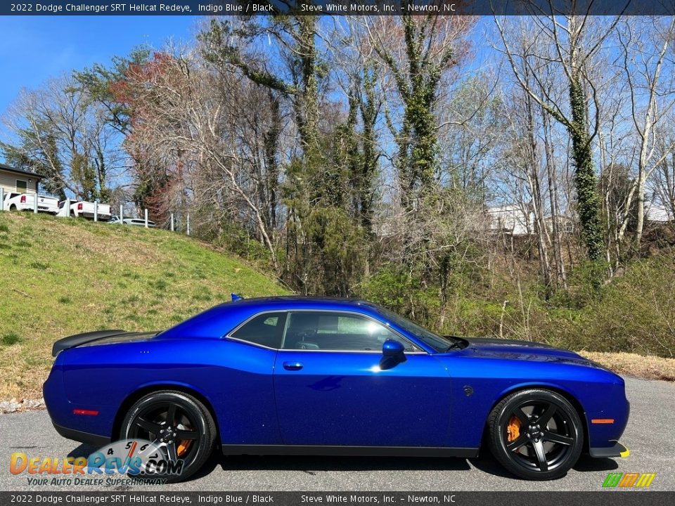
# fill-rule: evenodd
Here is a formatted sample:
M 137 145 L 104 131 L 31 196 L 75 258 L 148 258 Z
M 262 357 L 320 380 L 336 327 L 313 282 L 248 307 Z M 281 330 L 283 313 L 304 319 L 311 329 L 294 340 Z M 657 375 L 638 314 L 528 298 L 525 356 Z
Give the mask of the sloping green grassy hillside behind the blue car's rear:
M 286 290 L 178 233 L 0 212 L 0 399 L 39 398 L 51 345 L 78 332 L 162 330 L 221 301 Z

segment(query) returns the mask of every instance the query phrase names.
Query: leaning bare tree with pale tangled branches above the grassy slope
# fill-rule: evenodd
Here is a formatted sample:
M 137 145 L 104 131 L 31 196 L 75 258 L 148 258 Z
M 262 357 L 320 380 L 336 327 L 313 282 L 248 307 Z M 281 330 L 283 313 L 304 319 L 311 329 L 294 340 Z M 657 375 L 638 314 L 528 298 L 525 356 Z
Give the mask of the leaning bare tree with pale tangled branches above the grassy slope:
M 266 183 L 261 166 L 269 159 L 264 134 L 250 130 L 261 126 L 259 118 L 243 117 L 251 111 L 246 83 L 234 74 L 223 82 L 195 51 L 162 53 L 129 70 L 128 78 L 135 128 L 127 148 L 164 160 L 165 166 L 173 160 L 172 179 L 184 181 L 181 194 L 188 193 L 193 209 L 210 209 L 206 221 L 239 215 L 252 223 L 276 268 L 271 218 L 264 209 L 269 202 L 259 198 Z

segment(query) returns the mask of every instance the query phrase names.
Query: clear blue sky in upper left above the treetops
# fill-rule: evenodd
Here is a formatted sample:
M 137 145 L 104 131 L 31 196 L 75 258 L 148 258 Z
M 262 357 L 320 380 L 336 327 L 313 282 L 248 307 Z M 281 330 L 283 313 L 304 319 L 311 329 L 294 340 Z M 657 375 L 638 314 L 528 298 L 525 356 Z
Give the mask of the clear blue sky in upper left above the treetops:
M 135 46 L 160 48 L 188 39 L 198 16 L 0 17 L 0 116 L 22 88 L 92 63 L 108 63 Z M 0 126 L 0 138 L 6 132 Z

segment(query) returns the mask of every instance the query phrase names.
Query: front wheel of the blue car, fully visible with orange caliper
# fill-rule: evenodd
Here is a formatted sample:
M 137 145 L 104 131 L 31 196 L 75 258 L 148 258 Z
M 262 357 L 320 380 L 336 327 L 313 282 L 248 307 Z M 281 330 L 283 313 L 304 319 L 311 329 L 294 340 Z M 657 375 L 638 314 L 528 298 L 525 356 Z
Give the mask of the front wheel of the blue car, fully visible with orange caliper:
M 518 437 L 516 431 L 508 434 L 509 424 Z M 577 410 L 550 390 L 530 389 L 506 396 L 491 411 L 488 431 L 490 449 L 499 463 L 530 480 L 565 476 L 584 448 Z

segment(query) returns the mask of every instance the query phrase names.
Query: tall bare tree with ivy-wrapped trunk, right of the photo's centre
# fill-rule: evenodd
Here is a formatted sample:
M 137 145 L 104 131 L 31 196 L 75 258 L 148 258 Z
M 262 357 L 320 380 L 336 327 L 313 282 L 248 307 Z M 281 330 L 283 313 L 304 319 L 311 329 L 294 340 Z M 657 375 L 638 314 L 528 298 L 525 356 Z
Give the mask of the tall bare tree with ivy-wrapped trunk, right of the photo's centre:
M 589 67 L 603 48 L 603 42 L 614 32 L 618 21 L 619 18 L 612 18 L 609 22 L 598 21 L 589 15 L 533 16 L 527 18 L 526 22 L 531 25 L 529 28 L 522 22 L 516 27 L 520 42 L 514 44 L 513 40 L 518 37 L 508 32 L 506 20 L 495 18 L 503 52 L 518 86 L 563 124 L 570 134 L 577 212 L 587 255 L 594 262 L 605 259 L 605 244 L 592 153 L 592 142 L 600 126 L 599 90 L 598 83 L 590 78 Z M 550 65 L 565 76 L 569 96 L 567 105 L 555 100 L 542 82 L 541 72 Z M 526 71 L 541 85 L 532 86 L 525 77 Z M 592 108 L 589 108 L 589 102 Z M 594 116 L 593 122 L 589 115 Z

